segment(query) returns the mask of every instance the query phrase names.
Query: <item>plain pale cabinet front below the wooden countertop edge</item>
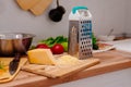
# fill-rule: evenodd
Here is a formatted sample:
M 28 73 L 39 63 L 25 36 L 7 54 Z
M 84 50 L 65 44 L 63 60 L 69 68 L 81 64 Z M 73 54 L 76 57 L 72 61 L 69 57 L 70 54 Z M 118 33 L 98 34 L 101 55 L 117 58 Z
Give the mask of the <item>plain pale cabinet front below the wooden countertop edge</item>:
M 52 87 L 130 87 L 131 67 L 83 78 Z

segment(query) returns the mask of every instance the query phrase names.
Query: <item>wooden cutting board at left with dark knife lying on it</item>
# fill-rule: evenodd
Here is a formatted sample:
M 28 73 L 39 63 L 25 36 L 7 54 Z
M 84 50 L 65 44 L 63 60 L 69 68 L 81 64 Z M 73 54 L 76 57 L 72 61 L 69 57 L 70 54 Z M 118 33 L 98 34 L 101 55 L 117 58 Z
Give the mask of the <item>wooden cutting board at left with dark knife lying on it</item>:
M 9 69 L 9 63 L 13 60 L 13 58 L 0 58 L 0 61 L 8 66 Z M 10 82 L 12 80 L 17 73 L 20 72 L 21 67 L 26 63 L 27 58 L 21 58 L 20 61 L 20 65 L 16 70 L 16 72 L 13 75 L 10 75 L 9 70 L 7 69 L 7 71 L 2 74 L 0 74 L 0 83 L 5 83 L 5 82 Z

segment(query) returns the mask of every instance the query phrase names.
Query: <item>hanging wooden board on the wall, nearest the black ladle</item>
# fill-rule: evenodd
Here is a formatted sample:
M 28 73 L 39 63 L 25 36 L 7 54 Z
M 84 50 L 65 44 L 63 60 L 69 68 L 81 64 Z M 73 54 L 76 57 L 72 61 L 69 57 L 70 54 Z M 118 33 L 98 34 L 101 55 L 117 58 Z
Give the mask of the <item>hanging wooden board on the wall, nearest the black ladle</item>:
M 35 7 L 31 9 L 35 15 L 40 15 L 49 7 L 52 0 L 40 0 Z

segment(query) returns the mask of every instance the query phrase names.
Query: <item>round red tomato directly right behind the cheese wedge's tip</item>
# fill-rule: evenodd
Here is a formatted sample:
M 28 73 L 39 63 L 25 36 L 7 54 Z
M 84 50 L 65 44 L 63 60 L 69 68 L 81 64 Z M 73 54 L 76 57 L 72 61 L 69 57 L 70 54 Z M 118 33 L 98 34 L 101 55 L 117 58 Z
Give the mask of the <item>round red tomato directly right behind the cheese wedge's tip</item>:
M 51 51 L 52 51 L 53 54 L 60 54 L 60 53 L 63 53 L 64 49 L 63 49 L 62 45 L 56 44 L 56 45 L 51 48 Z

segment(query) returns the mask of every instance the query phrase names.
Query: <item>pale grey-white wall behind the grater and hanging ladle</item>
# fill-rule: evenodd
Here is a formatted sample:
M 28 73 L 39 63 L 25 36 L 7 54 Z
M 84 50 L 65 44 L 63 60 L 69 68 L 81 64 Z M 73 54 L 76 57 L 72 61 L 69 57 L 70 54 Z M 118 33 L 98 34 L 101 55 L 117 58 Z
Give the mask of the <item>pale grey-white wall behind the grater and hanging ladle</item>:
M 0 32 L 32 33 L 37 36 L 35 41 L 49 36 L 68 36 L 68 15 L 74 5 L 88 7 L 96 35 L 108 34 L 111 28 L 115 29 L 114 34 L 126 30 L 127 0 L 60 0 L 67 13 L 59 23 L 48 18 L 49 10 L 56 8 L 55 1 L 43 15 L 34 16 L 31 12 L 21 10 L 15 0 L 0 0 Z

